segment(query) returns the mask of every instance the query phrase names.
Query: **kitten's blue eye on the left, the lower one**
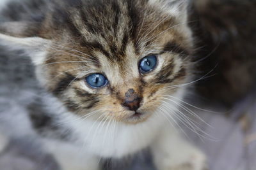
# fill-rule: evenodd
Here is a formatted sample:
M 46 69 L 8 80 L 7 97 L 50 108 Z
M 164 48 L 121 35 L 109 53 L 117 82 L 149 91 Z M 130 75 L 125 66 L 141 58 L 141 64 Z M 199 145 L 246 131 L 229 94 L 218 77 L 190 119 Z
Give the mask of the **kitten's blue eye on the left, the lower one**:
M 93 88 L 104 87 L 108 84 L 107 78 L 102 74 L 90 74 L 90 76 L 87 76 L 85 79 L 88 85 Z

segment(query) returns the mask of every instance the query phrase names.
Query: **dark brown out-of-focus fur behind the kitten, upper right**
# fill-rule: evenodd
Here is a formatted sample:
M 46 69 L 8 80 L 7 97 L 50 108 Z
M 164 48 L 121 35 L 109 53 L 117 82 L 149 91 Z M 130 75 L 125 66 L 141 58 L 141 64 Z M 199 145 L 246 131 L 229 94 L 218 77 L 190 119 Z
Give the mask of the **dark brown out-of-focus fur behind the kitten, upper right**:
M 250 0 L 197 0 L 190 19 L 198 40 L 199 71 L 213 76 L 198 81 L 207 101 L 233 106 L 255 88 L 256 3 Z M 198 59 L 199 57 L 199 59 Z

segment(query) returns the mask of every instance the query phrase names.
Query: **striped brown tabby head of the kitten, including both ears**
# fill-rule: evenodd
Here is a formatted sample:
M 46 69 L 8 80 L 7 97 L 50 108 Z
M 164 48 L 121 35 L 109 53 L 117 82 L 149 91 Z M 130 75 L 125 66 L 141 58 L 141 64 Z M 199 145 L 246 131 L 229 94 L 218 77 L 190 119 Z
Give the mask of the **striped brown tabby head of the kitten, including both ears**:
M 38 79 L 72 113 L 136 124 L 188 81 L 186 4 L 67 0 L 49 4 L 40 22 L 1 24 L 0 39 L 31 57 Z

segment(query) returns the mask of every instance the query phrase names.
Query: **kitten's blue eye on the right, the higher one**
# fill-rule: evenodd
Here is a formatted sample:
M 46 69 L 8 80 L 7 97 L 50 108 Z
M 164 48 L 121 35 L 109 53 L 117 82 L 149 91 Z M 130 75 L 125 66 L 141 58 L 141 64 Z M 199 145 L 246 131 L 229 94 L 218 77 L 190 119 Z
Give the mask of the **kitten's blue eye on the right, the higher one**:
M 150 55 L 144 57 L 140 62 L 140 71 L 141 72 L 148 72 L 152 71 L 157 64 L 157 58 L 155 55 Z

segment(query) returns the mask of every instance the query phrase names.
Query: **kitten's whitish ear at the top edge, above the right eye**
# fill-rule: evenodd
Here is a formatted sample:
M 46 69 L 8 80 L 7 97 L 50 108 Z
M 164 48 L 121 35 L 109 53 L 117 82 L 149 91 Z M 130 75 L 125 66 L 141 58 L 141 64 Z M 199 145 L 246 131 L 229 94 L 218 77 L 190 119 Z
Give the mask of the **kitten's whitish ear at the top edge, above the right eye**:
M 148 3 L 178 18 L 182 23 L 188 20 L 189 0 L 148 0 Z

